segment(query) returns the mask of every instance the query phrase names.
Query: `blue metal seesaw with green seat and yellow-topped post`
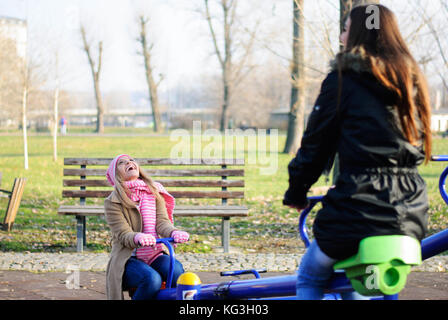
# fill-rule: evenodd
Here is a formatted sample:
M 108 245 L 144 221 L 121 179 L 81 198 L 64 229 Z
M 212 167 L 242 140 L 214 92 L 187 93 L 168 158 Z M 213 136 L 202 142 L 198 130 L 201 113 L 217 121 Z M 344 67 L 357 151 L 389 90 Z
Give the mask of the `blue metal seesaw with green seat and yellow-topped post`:
M 433 156 L 432 161 L 448 161 L 448 156 Z M 448 194 L 445 190 L 447 176 L 448 167 L 439 179 L 440 194 L 448 204 Z M 305 247 L 310 245 L 306 218 L 322 199 L 322 196 L 310 197 L 310 205 L 300 214 L 299 233 Z M 172 238 L 157 240 L 158 243 L 167 246 L 171 259 L 166 288 L 159 291 L 156 297 L 158 300 L 280 300 L 296 297 L 296 274 L 261 278 L 260 273 L 266 272 L 265 269 L 221 272 L 221 276 L 253 274 L 255 279 L 212 284 L 202 284 L 196 274 L 186 272 L 179 277 L 175 288 L 172 283 L 174 265 L 174 250 L 170 243 L 172 241 Z M 356 290 L 363 295 L 371 296 L 372 300 L 398 299 L 398 293 L 404 288 L 411 267 L 447 250 L 448 229 L 423 239 L 421 244 L 411 237 L 400 235 L 363 239 L 357 255 L 335 264 L 335 272 L 325 291 L 325 298 L 339 299 L 340 293 Z M 372 277 L 375 280 L 373 282 Z M 372 283 L 375 285 L 369 285 Z

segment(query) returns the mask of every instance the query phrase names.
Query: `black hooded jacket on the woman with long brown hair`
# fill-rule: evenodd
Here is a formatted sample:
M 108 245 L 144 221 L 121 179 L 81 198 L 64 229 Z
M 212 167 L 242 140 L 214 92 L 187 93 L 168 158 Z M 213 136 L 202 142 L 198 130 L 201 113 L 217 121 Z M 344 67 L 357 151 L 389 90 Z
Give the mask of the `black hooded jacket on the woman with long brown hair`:
M 395 96 L 368 70 L 355 66 L 343 65 L 339 106 L 337 72 L 324 80 L 301 148 L 288 166 L 283 200 L 306 203 L 309 188 L 338 153 L 340 174 L 313 225 L 319 247 L 335 259 L 355 254 L 368 236 L 402 234 L 421 240 L 427 225 L 426 184 L 416 169 L 424 161 L 423 148 L 403 136 Z

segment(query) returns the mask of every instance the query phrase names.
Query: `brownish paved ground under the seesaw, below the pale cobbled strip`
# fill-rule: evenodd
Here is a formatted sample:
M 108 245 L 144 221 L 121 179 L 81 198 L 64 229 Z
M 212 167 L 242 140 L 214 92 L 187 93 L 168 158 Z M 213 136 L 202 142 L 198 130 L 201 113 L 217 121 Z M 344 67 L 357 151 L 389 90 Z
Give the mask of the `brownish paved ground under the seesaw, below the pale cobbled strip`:
M 218 272 L 197 272 L 202 283 L 236 280 L 221 277 Z M 269 272 L 262 277 L 291 273 Z M 106 273 L 80 272 L 80 288 L 69 289 L 64 272 L 32 273 L 28 271 L 0 271 L 0 300 L 105 300 Z M 245 275 L 239 279 L 250 279 Z M 70 286 L 69 286 L 70 287 Z M 125 293 L 125 299 L 129 299 Z M 408 276 L 400 300 L 448 300 L 447 272 L 412 272 Z

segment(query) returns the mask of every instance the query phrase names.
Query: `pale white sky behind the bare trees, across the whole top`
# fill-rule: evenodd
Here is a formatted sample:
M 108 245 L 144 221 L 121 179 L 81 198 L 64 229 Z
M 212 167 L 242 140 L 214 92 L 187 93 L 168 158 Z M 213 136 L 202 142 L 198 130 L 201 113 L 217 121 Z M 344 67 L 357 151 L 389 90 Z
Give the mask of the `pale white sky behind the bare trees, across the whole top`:
M 249 23 L 250 19 L 262 17 L 264 29 L 260 32 L 275 29 L 278 33 L 273 42 L 281 38 L 279 51 L 289 56 L 292 0 L 240 1 L 243 6 L 251 2 L 257 5 L 246 10 L 249 14 L 243 15 L 243 21 Z M 396 13 L 409 10 L 405 0 L 381 2 Z M 311 22 L 319 24 L 330 15 L 332 18 L 338 15 L 338 0 L 320 1 L 326 9 L 314 8 L 312 12 L 309 10 L 317 6 L 317 1 L 305 3 L 306 16 Z M 102 90 L 145 91 L 143 59 L 137 54 L 136 41 L 136 15 L 145 12 L 150 16 L 149 33 L 154 42 L 154 76 L 157 80 L 158 74 L 163 73 L 160 87 L 163 91 L 179 83 L 194 83 L 205 74 L 219 73 L 208 26 L 197 12 L 202 6 L 202 0 L 0 0 L 0 16 L 28 21 L 29 56 L 46 61 L 41 63 L 47 66 L 46 73 L 55 74 L 58 52 L 58 73 L 64 89 L 92 90 L 79 33 L 82 22 L 93 42 L 98 39 L 104 42 Z M 332 30 L 334 40 L 337 33 Z M 311 42 L 310 38 L 307 41 Z M 48 86 L 51 85 L 49 82 Z

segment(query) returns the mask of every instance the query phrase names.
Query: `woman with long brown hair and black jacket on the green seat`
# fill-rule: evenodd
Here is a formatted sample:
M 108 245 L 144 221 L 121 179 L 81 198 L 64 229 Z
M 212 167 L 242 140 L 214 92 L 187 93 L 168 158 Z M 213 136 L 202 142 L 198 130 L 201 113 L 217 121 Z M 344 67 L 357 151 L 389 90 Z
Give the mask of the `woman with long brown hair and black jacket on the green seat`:
M 317 213 L 312 242 L 298 271 L 299 299 L 321 299 L 333 264 L 358 251 L 361 239 L 408 235 L 427 227 L 426 184 L 417 166 L 431 156 L 426 80 L 382 5 L 379 29 L 367 27 L 367 6 L 354 8 L 288 166 L 284 204 L 307 206 L 306 194 L 338 153 L 340 174 Z

